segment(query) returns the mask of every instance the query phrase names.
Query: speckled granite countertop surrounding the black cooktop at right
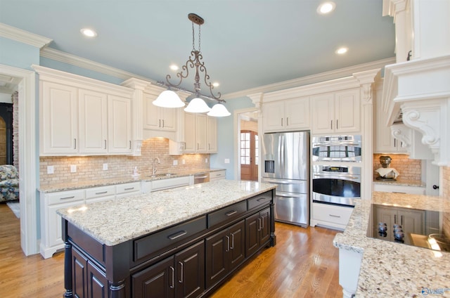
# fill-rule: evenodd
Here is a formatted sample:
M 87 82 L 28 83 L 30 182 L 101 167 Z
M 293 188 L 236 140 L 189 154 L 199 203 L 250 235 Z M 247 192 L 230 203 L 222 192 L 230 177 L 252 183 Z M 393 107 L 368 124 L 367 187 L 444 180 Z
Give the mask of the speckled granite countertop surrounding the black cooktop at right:
M 371 205 L 450 212 L 444 197 L 373 192 L 372 200 L 357 202 L 343 233 L 333 245 L 363 254 L 356 297 L 422 297 L 422 291 L 448 289 L 450 297 L 450 253 L 435 257 L 432 250 L 368 238 Z

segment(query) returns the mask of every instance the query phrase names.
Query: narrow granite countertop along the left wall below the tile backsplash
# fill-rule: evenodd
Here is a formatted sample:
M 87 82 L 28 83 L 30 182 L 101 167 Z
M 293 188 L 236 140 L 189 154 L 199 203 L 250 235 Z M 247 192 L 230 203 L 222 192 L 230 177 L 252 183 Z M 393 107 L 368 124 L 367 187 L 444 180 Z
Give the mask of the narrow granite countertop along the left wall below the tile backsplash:
M 56 193 L 58 191 L 65 191 L 65 190 L 76 190 L 82 188 L 110 186 L 122 183 L 155 181 L 162 179 L 171 179 L 176 177 L 193 176 L 195 174 L 212 173 L 214 171 L 223 171 L 223 170 L 225 169 L 193 169 L 189 171 L 181 171 L 178 174 L 173 174 L 170 176 L 150 177 L 150 174 L 140 174 L 139 176 L 136 177 L 124 176 L 121 178 L 112 178 L 112 179 L 97 179 L 97 180 L 70 182 L 70 183 L 52 183 L 45 186 L 39 186 L 37 190 L 44 193 Z

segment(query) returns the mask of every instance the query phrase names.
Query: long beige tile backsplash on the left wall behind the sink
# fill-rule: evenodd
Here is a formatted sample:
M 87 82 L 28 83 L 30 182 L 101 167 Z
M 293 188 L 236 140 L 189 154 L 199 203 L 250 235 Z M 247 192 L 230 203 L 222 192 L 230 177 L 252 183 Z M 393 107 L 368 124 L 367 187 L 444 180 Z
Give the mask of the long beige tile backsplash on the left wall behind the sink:
M 153 160 L 157 157 L 160 159 L 160 164 L 157 165 L 158 173 L 210 167 L 209 154 L 169 155 L 169 139 L 149 138 L 142 142 L 141 156 L 40 157 L 39 180 L 42 186 L 89 179 L 121 178 L 131 176 L 134 167 L 138 168 L 139 174 L 150 174 Z M 205 162 L 206 159 L 207 162 Z M 174 160 L 177 160 L 178 165 L 173 165 Z M 103 170 L 103 164 L 108 164 L 108 170 Z M 72 165 L 77 166 L 75 173 L 70 172 Z M 47 166 L 53 166 L 53 174 L 47 174 Z

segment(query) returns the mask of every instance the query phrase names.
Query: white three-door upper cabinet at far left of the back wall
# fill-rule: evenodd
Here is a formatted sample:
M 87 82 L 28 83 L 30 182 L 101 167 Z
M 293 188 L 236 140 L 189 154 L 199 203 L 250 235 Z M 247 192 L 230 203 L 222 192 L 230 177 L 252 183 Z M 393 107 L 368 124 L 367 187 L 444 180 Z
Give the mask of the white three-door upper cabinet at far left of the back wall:
M 34 68 L 40 79 L 40 155 L 131 153 L 132 89 Z

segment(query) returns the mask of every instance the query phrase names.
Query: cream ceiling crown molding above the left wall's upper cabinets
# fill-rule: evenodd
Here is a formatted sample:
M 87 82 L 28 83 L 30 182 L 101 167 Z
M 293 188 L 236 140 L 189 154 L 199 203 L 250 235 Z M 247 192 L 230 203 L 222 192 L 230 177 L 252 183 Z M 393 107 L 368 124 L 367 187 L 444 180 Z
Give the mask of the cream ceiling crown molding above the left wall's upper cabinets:
M 134 74 L 132 72 L 126 72 L 115 67 L 110 67 L 86 58 L 81 58 L 79 56 L 72 55 L 70 53 L 65 53 L 63 51 L 58 51 L 54 48 L 42 48 L 41 56 L 44 58 L 49 58 L 51 60 L 56 60 L 62 63 L 67 63 L 70 65 L 82 67 L 86 70 L 92 70 L 94 72 L 100 72 L 102 74 L 108 74 L 112 77 L 118 77 L 119 79 L 143 79 L 145 81 L 155 84 L 156 81 L 150 80 L 147 77 L 140 76 L 139 74 Z

